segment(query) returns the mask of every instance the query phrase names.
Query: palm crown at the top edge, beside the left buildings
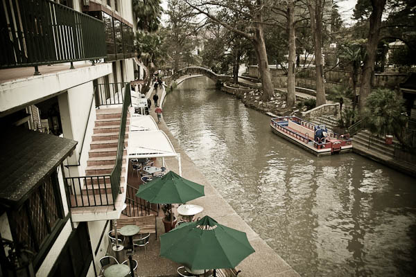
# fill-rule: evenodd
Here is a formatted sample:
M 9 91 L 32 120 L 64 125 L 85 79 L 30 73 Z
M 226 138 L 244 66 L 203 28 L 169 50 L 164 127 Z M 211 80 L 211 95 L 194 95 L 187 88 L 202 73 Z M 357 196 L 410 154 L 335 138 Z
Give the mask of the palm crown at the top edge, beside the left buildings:
M 155 32 L 162 16 L 161 0 L 132 0 L 132 10 L 136 15 L 137 28 Z

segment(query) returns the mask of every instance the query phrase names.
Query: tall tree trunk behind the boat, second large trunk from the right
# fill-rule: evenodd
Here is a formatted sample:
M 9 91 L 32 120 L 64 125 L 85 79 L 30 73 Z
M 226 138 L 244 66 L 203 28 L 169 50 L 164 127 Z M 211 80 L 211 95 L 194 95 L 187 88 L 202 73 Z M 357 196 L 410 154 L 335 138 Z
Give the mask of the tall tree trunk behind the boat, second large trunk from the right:
M 308 1 L 311 16 L 311 30 L 315 47 L 316 107 L 326 104 L 324 86 L 324 66 L 322 64 L 322 0 Z

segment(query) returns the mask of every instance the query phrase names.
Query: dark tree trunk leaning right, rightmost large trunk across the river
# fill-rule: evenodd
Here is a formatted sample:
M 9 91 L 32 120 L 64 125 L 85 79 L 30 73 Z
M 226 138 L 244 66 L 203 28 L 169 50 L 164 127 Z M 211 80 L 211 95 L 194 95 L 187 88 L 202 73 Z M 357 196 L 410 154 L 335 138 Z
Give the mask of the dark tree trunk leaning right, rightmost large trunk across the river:
M 374 74 L 374 62 L 376 60 L 377 44 L 379 44 L 379 34 L 381 26 L 381 16 L 386 0 L 372 0 L 372 13 L 370 15 L 370 31 L 368 33 L 368 40 L 366 44 L 367 55 L 365 56 L 363 73 L 361 75 L 360 86 L 360 108 L 365 107 L 367 96 L 371 92 L 371 79 Z

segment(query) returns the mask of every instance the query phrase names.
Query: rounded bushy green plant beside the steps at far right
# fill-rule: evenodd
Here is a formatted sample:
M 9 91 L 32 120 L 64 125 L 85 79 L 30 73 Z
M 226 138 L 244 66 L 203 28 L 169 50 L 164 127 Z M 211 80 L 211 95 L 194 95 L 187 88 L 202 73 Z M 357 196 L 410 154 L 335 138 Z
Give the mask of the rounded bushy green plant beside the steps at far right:
M 374 134 L 400 134 L 406 125 L 404 101 L 395 91 L 376 89 L 367 98 L 363 121 Z

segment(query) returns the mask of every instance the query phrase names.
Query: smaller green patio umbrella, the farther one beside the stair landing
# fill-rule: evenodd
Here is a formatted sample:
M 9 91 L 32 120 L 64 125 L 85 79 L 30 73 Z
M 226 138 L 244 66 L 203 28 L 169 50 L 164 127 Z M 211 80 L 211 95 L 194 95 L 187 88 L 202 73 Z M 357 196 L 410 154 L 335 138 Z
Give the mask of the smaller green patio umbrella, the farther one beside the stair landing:
M 204 186 L 184 179 L 173 171 L 139 186 L 136 193 L 137 197 L 157 204 L 184 204 L 204 195 Z

